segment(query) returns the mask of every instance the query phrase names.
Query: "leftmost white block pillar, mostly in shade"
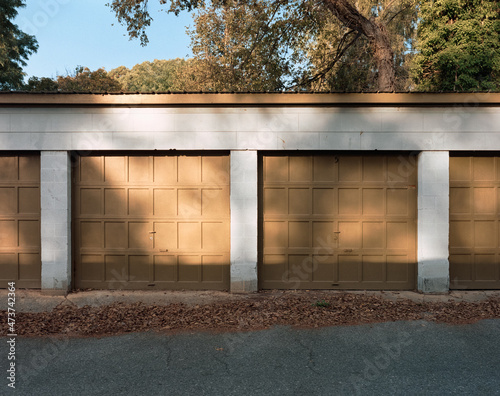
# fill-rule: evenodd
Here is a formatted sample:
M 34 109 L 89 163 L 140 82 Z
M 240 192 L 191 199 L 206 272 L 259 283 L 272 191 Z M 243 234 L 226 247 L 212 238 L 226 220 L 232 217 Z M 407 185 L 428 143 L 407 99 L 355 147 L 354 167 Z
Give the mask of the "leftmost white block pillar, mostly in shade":
M 41 152 L 42 291 L 71 287 L 71 162 L 66 151 Z

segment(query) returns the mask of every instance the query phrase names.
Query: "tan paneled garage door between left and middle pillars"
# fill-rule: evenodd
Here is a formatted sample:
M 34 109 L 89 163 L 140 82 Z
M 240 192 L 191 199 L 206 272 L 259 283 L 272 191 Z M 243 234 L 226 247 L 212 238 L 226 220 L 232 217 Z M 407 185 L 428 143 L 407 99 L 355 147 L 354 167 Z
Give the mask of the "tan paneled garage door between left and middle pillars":
M 229 156 L 86 156 L 74 175 L 77 288 L 229 287 Z

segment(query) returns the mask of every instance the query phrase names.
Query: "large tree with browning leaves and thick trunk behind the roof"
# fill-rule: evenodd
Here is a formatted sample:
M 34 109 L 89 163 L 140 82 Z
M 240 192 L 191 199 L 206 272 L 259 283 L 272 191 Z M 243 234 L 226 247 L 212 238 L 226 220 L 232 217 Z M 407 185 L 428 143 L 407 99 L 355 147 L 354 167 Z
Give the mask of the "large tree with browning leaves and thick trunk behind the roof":
M 406 43 L 414 30 L 412 0 L 358 0 L 355 4 L 350 0 L 159 1 L 169 3 L 169 11 L 176 14 L 199 10 L 193 73 L 203 77 L 202 87 L 212 90 L 279 90 L 290 82 L 314 87 L 307 84 L 318 80 L 321 87 L 335 87 L 327 74 L 337 65 L 349 63 L 347 57 L 358 54 L 354 49 L 359 47 L 364 49 L 359 58 L 366 55 L 370 59 L 362 60 L 372 81 L 365 85 L 391 91 L 397 86 L 398 62 L 405 55 L 400 50 L 405 44 L 401 43 Z M 109 5 L 127 25 L 130 37 L 140 38 L 145 45 L 146 28 L 152 20 L 148 0 L 113 0 Z M 399 30 L 389 28 L 389 24 Z M 325 28 L 330 28 L 331 34 L 326 34 Z M 363 44 L 358 44 L 360 38 Z M 334 39 L 330 47 L 320 44 L 328 39 Z M 399 47 L 395 50 L 396 42 Z M 307 76 L 312 70 L 320 78 Z

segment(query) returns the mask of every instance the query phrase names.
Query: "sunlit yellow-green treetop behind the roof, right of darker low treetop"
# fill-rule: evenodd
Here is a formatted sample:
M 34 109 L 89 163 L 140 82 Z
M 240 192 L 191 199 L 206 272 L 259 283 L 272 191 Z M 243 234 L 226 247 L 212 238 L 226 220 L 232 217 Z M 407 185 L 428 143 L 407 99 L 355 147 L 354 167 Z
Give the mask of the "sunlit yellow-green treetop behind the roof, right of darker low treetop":
M 117 67 L 108 76 L 118 81 L 124 91 L 128 92 L 166 92 L 178 91 L 183 87 L 179 75 L 186 67 L 181 58 L 142 62 L 131 69 Z

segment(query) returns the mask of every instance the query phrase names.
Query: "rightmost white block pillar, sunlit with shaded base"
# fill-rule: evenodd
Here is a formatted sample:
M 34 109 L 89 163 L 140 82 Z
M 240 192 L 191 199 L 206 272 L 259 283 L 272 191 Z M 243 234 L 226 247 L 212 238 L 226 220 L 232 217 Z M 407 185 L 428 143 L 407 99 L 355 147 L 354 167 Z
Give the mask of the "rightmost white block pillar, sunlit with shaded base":
M 418 157 L 418 290 L 447 293 L 450 159 L 448 151 Z

